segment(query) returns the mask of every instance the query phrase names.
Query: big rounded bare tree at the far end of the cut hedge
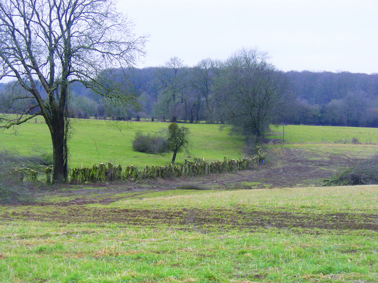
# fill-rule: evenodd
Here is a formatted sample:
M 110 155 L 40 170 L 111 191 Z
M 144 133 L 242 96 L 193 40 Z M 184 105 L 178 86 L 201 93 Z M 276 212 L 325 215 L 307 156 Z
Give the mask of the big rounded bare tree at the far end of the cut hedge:
M 241 50 L 230 57 L 217 80 L 216 93 L 225 121 L 261 141 L 287 88 L 284 74 L 265 53 Z

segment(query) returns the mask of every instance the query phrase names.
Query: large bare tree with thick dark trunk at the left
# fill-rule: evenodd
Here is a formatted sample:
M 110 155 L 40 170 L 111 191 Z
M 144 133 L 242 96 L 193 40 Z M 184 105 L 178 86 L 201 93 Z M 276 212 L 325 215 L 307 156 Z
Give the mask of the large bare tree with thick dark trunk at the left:
M 15 102 L 35 100 L 16 118 L 1 116 L 0 126 L 44 117 L 52 138 L 55 182 L 68 178 L 70 84 L 81 82 L 105 100 L 134 102 L 128 86 L 110 81 L 104 71 L 130 67 L 143 55 L 146 37 L 135 36 L 132 28 L 113 0 L 0 0 L 0 80 L 13 79 L 23 88 L 13 96 Z

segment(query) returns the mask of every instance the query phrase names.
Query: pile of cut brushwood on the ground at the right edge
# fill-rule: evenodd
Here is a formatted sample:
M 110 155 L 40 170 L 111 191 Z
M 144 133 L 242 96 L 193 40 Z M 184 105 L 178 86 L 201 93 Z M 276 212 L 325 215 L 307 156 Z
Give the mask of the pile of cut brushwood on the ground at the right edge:
M 335 174 L 324 182 L 326 185 L 378 184 L 378 155 L 374 155 L 340 174 Z

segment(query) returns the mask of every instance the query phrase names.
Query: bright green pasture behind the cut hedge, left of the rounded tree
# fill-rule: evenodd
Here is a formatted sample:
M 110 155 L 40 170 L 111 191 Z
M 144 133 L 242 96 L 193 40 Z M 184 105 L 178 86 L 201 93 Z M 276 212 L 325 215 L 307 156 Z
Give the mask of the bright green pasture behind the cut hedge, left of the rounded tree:
M 16 131 L 0 130 L 2 150 L 14 150 L 20 154 L 52 153 L 51 138 L 46 124 L 40 118 L 37 123 L 28 122 L 16 127 Z M 70 167 L 92 167 L 108 161 L 122 166 L 165 165 L 172 160 L 171 154 L 151 155 L 133 151 L 135 133 L 159 132 L 169 123 L 162 122 L 113 122 L 105 120 L 72 120 L 72 133 L 68 141 Z M 242 158 L 244 138 L 229 135 L 229 129 L 220 125 L 186 124 L 190 129 L 190 154 L 179 153 L 177 162 L 190 158 L 208 161 Z

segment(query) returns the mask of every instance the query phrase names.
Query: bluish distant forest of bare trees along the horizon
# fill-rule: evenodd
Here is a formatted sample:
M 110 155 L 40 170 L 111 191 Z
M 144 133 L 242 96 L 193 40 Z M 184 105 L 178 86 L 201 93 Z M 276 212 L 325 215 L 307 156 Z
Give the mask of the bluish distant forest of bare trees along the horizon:
M 129 89 L 135 93 L 139 107 L 124 110 L 120 105 L 99 100 L 90 89 L 72 84 L 70 116 L 227 122 L 213 93 L 216 68 L 151 67 L 133 69 L 127 75 Z M 378 127 L 378 74 L 290 71 L 285 75 L 289 81 L 285 100 L 271 123 Z M 17 85 L 13 83 L 0 84 L 1 112 L 21 113 L 33 104 L 33 99 L 28 99 L 7 108 L 15 91 Z

